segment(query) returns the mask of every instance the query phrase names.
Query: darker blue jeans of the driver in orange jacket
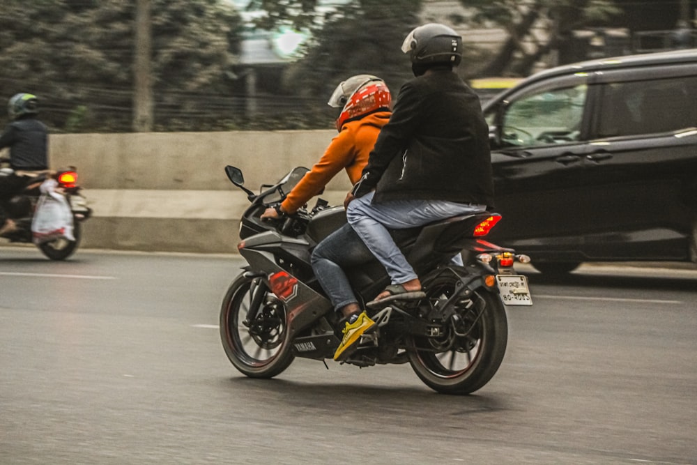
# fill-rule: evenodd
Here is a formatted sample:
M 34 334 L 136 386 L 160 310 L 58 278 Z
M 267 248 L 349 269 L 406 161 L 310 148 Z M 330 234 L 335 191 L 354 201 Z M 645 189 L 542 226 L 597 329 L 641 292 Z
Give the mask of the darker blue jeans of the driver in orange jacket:
M 373 254 L 348 224 L 314 247 L 312 270 L 337 312 L 350 303 L 358 303 L 344 268 L 365 264 L 372 259 Z

